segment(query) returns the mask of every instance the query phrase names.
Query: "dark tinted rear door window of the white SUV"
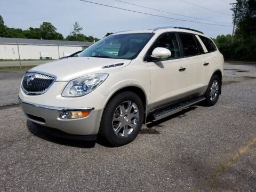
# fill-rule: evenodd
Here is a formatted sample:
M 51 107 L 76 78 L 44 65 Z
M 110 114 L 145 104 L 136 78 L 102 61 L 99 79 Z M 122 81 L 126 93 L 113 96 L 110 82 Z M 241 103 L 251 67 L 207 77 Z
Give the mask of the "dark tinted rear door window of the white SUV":
M 200 53 L 194 35 L 183 33 L 179 35 L 183 45 L 183 51 L 185 56 L 196 55 Z

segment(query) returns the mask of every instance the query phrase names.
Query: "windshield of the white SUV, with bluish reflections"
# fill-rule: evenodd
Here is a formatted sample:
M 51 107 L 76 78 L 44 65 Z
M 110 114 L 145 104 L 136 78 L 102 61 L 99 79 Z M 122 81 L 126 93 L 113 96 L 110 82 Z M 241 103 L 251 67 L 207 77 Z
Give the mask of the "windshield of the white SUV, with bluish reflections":
M 78 57 L 135 59 L 153 33 L 110 35 L 88 47 Z

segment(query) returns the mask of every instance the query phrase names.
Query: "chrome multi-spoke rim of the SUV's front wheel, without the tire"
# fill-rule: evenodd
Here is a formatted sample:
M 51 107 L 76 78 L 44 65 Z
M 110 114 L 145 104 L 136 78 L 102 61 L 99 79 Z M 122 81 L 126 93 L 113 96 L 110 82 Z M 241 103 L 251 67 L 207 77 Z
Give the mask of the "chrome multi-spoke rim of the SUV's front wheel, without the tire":
M 138 106 L 132 101 L 124 101 L 118 105 L 113 115 L 114 133 L 121 138 L 128 137 L 139 122 Z

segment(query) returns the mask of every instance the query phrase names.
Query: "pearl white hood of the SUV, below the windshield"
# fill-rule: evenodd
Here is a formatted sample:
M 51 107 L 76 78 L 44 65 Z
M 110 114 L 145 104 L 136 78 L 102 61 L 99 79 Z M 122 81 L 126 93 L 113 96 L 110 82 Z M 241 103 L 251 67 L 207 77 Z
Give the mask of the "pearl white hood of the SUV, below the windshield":
M 131 60 L 92 57 L 65 58 L 36 66 L 30 71 L 41 71 L 57 77 L 56 81 L 70 81 L 94 73 L 108 73 L 110 69 L 117 69 L 129 65 Z M 109 65 L 123 63 L 121 66 L 102 68 Z

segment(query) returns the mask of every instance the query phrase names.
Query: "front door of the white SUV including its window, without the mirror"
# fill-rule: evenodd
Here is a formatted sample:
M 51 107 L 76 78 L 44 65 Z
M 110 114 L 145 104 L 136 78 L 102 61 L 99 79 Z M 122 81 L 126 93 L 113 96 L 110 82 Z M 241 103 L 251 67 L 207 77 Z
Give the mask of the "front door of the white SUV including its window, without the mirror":
M 171 51 L 167 59 L 154 59 L 150 55 L 156 47 Z M 150 70 L 151 98 L 149 110 L 170 105 L 182 99 L 186 92 L 187 62 L 181 58 L 181 49 L 175 33 L 165 33 L 158 37 L 147 53 Z

